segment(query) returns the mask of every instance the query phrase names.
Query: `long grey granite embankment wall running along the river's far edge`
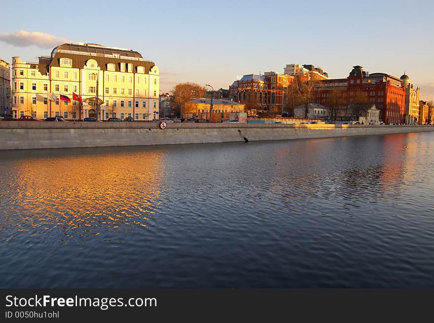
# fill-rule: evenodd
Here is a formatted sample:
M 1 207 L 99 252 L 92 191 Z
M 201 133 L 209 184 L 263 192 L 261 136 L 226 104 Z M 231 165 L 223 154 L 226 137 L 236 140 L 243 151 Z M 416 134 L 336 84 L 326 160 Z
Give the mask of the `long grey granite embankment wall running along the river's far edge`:
M 0 121 L 0 150 L 287 140 L 434 131 L 434 126 Z

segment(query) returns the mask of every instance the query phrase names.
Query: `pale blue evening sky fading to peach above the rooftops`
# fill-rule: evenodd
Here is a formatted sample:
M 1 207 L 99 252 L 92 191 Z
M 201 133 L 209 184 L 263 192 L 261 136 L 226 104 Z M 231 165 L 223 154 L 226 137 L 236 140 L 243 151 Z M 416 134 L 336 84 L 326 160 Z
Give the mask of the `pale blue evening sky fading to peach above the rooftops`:
M 3 2 L 3 1 L 2 1 Z M 183 82 L 214 89 L 246 74 L 352 66 L 400 77 L 434 100 L 434 1 L 34 1 L 1 5 L 0 59 L 37 62 L 64 42 L 138 51 L 160 69 L 160 93 Z

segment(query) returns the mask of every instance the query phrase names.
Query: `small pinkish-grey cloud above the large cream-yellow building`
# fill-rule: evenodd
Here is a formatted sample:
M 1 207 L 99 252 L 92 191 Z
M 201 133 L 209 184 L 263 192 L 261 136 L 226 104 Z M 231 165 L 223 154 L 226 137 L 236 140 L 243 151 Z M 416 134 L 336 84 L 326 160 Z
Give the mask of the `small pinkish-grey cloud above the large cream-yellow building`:
M 0 32 L 0 40 L 17 46 L 27 47 L 35 45 L 42 48 L 53 48 L 63 43 L 70 43 L 71 40 L 57 37 L 44 32 L 19 31 L 13 33 Z

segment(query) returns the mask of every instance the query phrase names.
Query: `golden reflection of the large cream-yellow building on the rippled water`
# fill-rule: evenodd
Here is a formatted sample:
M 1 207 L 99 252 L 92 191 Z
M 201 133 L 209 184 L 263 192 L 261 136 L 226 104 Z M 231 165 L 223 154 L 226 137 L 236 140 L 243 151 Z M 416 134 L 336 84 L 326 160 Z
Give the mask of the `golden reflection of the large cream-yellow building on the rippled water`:
M 161 159 L 161 151 L 136 151 L 20 160 L 12 222 L 35 234 L 61 228 L 67 238 L 146 227 L 160 204 Z

